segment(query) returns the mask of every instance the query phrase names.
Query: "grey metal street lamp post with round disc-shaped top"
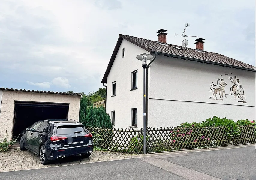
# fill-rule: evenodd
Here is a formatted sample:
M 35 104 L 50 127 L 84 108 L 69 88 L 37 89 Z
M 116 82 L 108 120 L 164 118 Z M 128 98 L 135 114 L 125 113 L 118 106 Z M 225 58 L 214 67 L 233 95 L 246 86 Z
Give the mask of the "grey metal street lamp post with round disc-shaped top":
M 153 58 L 150 54 L 140 54 L 136 57 L 138 60 L 142 61 L 143 67 L 143 154 L 147 154 L 147 139 L 146 139 L 146 79 L 145 79 L 145 69 L 147 67 L 147 60 Z

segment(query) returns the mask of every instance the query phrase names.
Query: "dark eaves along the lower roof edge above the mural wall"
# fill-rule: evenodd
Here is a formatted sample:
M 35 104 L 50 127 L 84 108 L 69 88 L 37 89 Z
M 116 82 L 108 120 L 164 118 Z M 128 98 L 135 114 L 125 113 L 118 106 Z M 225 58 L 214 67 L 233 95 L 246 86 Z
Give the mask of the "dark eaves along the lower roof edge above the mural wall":
M 224 67 L 232 67 L 232 68 L 236 68 L 236 69 L 242 69 L 242 70 L 248 70 L 248 71 L 256 72 L 255 69 L 250 69 L 250 68 L 245 68 L 245 67 L 233 66 L 233 65 L 222 64 L 222 63 L 217 63 L 217 62 L 212 62 L 212 61 L 205 61 L 205 60 L 200 60 L 200 59 L 195 59 L 195 58 L 189 58 L 189 57 L 186 57 L 186 56 L 167 54 L 167 53 L 157 52 L 157 51 L 152 51 L 152 52 L 156 52 L 156 53 L 159 53 L 159 54 L 162 54 L 162 55 L 170 55 L 172 57 L 177 57 L 177 58 L 182 58 L 182 59 L 185 58 L 185 59 L 192 60 L 192 61 L 197 61 L 197 62 L 204 62 L 204 63 L 207 63 L 207 64 L 214 64 L 214 65 L 219 65 L 219 66 L 224 66 Z

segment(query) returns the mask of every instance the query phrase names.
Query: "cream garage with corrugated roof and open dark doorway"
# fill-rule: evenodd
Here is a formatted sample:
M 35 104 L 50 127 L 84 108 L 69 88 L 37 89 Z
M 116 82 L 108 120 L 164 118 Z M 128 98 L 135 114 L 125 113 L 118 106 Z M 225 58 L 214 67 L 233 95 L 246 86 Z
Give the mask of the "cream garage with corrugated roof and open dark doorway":
M 79 120 L 79 93 L 0 88 L 0 134 L 10 137 L 41 119 Z

